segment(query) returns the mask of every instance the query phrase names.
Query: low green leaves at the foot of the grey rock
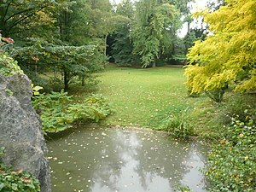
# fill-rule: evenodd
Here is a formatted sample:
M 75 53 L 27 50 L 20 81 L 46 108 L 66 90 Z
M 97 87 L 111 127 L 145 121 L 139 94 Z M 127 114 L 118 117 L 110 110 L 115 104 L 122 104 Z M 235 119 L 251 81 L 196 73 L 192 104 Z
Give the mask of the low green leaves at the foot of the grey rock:
M 0 148 L 0 191 L 3 192 L 37 192 L 40 191 L 39 181 L 28 172 L 14 170 L 4 166 L 2 162 L 4 148 Z

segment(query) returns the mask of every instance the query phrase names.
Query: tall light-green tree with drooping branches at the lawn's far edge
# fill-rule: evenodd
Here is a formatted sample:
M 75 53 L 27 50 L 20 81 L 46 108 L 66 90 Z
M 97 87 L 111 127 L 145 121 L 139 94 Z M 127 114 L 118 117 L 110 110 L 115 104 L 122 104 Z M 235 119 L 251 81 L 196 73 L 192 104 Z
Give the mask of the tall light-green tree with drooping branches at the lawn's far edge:
M 136 4 L 132 30 L 133 52 L 142 56 L 143 67 L 155 60 L 172 45 L 172 32 L 179 23 L 178 11 L 166 1 L 142 0 Z

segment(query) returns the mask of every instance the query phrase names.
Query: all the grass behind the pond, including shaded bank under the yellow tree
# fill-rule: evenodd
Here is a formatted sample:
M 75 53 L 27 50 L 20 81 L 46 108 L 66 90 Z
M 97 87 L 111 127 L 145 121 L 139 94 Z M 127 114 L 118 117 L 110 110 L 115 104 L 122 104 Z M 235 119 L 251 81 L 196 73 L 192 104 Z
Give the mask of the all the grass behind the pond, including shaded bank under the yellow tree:
M 106 125 L 158 129 L 171 117 L 182 118 L 195 127 L 197 135 L 211 140 L 221 137 L 233 113 L 254 108 L 244 105 L 245 102 L 238 105 L 241 100 L 252 101 L 253 96 L 226 93 L 222 104 L 207 96 L 189 97 L 183 73 L 182 67 L 142 69 L 110 65 L 96 74 L 100 81 L 98 89 L 72 85 L 69 93 L 77 100 L 90 91 L 107 97 L 115 113 L 102 122 Z

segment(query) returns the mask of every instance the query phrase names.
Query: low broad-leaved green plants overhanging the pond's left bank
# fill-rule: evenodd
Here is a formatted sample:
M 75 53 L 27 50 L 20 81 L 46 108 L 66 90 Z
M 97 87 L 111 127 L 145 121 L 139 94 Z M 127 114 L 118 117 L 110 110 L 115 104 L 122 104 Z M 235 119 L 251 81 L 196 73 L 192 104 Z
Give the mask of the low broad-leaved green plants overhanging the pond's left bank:
M 112 113 L 108 102 L 100 95 L 91 95 L 73 103 L 73 97 L 63 90 L 35 96 L 33 106 L 42 119 L 43 131 L 58 132 L 71 128 L 74 122 L 91 119 L 98 122 Z

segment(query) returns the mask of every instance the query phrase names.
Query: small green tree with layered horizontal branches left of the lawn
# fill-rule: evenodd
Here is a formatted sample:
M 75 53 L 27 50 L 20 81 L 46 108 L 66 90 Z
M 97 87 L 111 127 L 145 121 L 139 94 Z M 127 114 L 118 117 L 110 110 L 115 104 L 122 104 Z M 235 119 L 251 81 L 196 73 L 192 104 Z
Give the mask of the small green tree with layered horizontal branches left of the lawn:
M 45 81 L 40 77 L 38 78 L 37 71 L 41 73 L 53 72 L 54 81 L 52 81 L 53 79 L 50 81 L 55 85 L 62 81 L 61 89 L 64 88 L 64 90 L 68 90 L 69 84 L 75 77 L 80 77 L 81 81 L 89 78 L 91 73 L 101 70 L 105 64 L 106 58 L 96 45 L 55 45 L 38 38 L 32 39 L 32 43 L 15 51 L 19 61 L 26 63 L 26 65 L 23 64 L 23 68 L 26 70 L 30 67 L 28 74 L 31 76 L 29 76 L 32 80 L 43 80 L 42 83 Z M 34 72 L 31 72 L 32 69 Z M 47 87 L 44 84 L 38 85 Z

